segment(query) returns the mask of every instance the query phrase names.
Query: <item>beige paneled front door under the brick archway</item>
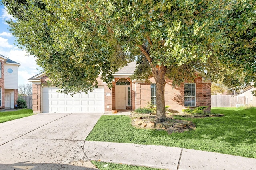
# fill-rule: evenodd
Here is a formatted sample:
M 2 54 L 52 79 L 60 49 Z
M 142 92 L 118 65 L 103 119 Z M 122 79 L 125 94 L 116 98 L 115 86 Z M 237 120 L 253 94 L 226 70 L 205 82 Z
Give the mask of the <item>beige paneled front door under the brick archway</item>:
M 126 109 L 125 86 L 116 86 L 116 109 Z

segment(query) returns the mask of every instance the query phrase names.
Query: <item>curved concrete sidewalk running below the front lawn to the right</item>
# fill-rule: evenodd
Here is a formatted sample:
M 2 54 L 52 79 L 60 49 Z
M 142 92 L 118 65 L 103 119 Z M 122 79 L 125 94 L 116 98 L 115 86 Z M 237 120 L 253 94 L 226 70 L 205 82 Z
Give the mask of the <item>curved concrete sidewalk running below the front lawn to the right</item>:
M 256 159 L 176 147 L 86 141 L 91 160 L 168 170 L 255 170 Z

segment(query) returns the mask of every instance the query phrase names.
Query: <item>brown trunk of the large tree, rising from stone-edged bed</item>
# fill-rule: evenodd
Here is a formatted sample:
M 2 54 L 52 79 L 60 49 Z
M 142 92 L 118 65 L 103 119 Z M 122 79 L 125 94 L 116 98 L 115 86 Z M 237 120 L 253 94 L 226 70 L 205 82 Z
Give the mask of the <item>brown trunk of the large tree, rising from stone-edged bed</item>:
M 166 121 L 164 86 L 165 82 L 165 66 L 156 66 L 152 68 L 153 77 L 156 80 L 156 119 Z

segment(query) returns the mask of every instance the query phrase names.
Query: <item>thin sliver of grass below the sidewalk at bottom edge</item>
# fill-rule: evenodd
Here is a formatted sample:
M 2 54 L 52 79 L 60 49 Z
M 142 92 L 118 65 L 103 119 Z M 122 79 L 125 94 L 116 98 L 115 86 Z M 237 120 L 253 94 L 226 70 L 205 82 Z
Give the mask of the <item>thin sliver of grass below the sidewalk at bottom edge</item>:
M 114 163 L 106 163 L 106 162 L 99 162 L 99 161 L 91 161 L 91 162 L 100 170 L 160 170 L 157 168 L 149 168 L 145 166 L 132 166 L 132 165 L 126 165 L 126 164 L 114 164 Z

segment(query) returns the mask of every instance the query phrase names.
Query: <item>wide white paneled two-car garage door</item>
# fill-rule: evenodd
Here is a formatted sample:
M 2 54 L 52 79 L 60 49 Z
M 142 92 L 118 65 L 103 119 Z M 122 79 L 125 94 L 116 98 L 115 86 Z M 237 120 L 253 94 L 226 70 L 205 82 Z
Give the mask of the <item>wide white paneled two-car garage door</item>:
M 104 87 L 98 87 L 88 94 L 58 93 L 58 88 L 42 88 L 43 113 L 103 113 Z

